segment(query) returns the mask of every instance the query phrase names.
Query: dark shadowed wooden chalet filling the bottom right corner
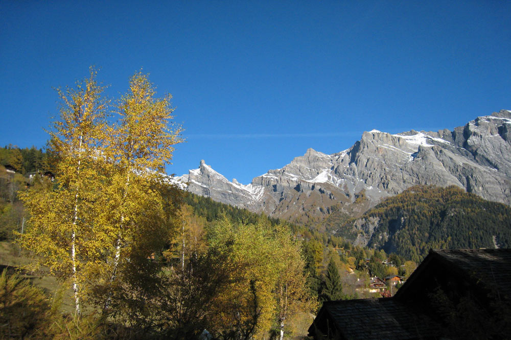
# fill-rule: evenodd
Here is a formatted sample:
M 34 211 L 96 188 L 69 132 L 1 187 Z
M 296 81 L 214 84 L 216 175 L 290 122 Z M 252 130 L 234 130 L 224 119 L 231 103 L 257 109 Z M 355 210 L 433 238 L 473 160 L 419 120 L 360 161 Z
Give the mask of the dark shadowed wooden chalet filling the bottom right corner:
M 314 339 L 511 338 L 511 249 L 430 250 L 391 298 L 331 301 Z

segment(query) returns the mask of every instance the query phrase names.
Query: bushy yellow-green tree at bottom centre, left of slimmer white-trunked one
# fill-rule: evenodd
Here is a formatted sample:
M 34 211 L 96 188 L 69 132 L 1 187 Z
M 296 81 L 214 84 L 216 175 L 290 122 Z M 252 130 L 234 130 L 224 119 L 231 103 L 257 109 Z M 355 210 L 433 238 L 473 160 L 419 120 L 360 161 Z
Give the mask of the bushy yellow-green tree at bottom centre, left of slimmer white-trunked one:
M 226 219 L 211 230 L 210 249 L 229 266 L 228 284 L 214 297 L 211 328 L 224 338 L 250 339 L 271 327 L 278 277 L 271 231 L 263 223 L 233 224 Z

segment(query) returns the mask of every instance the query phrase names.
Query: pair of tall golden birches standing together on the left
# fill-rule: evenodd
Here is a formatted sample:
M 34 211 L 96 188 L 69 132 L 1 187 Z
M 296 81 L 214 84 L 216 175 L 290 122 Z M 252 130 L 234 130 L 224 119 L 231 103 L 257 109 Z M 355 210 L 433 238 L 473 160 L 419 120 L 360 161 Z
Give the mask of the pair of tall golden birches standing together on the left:
M 147 298 L 157 270 L 147 259 L 168 239 L 179 196 L 164 174 L 181 141 L 171 95 L 156 98 L 141 72 L 114 108 L 103 89 L 91 70 L 75 88 L 58 90 L 62 105 L 50 131 L 55 183 L 22 197 L 31 218 L 19 244 L 71 280 L 77 313 L 85 297 L 105 310 L 114 294 L 129 297 L 125 305 Z M 117 123 L 107 123 L 108 111 Z

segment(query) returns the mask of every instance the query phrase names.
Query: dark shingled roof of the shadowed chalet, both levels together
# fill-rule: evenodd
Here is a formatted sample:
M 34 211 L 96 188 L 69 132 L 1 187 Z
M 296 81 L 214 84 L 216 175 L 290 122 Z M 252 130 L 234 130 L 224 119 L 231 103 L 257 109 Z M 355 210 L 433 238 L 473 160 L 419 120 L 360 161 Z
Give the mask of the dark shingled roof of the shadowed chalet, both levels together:
M 438 315 L 424 300 L 430 283 L 444 277 L 460 279 L 450 289 L 470 286 L 474 292 L 495 291 L 499 299 L 510 299 L 511 249 L 430 250 L 394 297 L 326 302 L 309 334 L 315 334 L 315 326 L 321 332 L 330 326 L 330 332 L 337 330 L 346 340 L 436 338 L 441 328 L 424 313 L 435 319 Z

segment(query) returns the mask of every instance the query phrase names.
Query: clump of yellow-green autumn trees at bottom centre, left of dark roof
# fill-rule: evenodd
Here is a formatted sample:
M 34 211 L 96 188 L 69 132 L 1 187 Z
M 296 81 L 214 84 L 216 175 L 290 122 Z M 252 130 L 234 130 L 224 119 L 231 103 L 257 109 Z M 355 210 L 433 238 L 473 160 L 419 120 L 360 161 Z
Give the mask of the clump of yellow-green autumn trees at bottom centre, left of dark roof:
M 283 337 L 291 315 L 313 307 L 300 247 L 286 227 L 223 220 L 211 231 L 210 249 L 230 268 L 211 307 L 211 329 L 224 338 L 262 337 L 275 321 Z

